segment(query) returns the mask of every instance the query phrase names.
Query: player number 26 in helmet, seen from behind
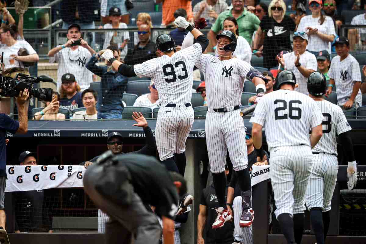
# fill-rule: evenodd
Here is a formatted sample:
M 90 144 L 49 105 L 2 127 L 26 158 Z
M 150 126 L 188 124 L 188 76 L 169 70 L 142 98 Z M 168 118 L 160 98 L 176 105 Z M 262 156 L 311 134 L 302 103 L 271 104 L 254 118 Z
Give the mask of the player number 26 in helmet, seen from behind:
M 253 123 L 254 147 L 260 151 L 263 151 L 262 128 L 265 127 L 276 218 L 287 243 L 299 244 L 306 187 L 313 165 L 311 148 L 322 136 L 323 115 L 313 99 L 295 91 L 294 73 L 285 70 L 277 78 L 280 90 L 265 95 L 258 102 L 250 122 Z

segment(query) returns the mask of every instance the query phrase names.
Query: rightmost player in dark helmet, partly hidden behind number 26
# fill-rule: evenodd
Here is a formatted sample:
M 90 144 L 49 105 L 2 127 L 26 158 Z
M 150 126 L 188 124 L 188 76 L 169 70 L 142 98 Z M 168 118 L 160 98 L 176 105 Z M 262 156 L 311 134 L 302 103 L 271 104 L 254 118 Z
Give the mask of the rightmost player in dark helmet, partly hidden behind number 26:
M 306 191 L 306 206 L 310 210 L 311 226 L 318 244 L 324 244 L 330 223 L 330 202 L 337 181 L 338 160 L 336 135 L 347 151 L 348 188 L 356 185 L 356 161 L 350 135 L 351 127 L 342 109 L 325 101 L 326 78 L 320 72 L 307 79 L 309 97 L 313 98 L 323 113 L 323 136 L 313 148 L 313 168 Z M 272 158 L 271 158 L 272 159 Z M 323 223 L 324 221 L 324 223 Z

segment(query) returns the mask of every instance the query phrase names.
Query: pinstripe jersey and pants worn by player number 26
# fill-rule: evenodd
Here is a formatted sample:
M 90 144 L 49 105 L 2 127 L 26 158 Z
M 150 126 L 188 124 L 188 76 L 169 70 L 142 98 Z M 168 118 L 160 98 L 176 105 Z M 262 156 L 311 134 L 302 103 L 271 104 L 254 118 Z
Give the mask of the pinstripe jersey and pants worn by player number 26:
M 270 151 L 270 177 L 275 193 L 276 218 L 303 213 L 313 154 L 309 128 L 323 115 L 313 99 L 291 90 L 266 94 L 258 102 L 251 123 L 264 126 Z

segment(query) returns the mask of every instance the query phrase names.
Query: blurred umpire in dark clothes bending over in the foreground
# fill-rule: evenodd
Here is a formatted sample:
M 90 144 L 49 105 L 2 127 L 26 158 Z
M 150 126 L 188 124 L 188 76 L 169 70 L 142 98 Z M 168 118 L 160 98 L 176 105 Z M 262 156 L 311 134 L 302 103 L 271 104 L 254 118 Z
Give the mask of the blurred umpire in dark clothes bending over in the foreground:
M 164 244 L 174 243 L 178 194 L 187 191 L 183 176 L 169 172 L 153 157 L 142 154 L 102 154 L 84 175 L 84 189 L 111 219 L 105 228 L 110 243 L 158 244 L 161 227 L 146 204 L 163 220 Z M 133 235 L 132 235 L 133 234 Z

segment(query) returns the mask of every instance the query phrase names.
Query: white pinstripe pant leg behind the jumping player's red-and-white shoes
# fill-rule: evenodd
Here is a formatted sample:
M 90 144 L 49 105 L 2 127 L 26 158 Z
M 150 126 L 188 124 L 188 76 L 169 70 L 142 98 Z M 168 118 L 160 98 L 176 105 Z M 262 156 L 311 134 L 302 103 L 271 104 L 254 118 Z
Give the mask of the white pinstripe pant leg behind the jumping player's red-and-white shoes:
M 232 211 L 234 212 L 234 239 L 243 244 L 253 244 L 253 225 L 249 228 L 240 227 L 240 216 L 242 215 L 242 197 L 234 198 Z

